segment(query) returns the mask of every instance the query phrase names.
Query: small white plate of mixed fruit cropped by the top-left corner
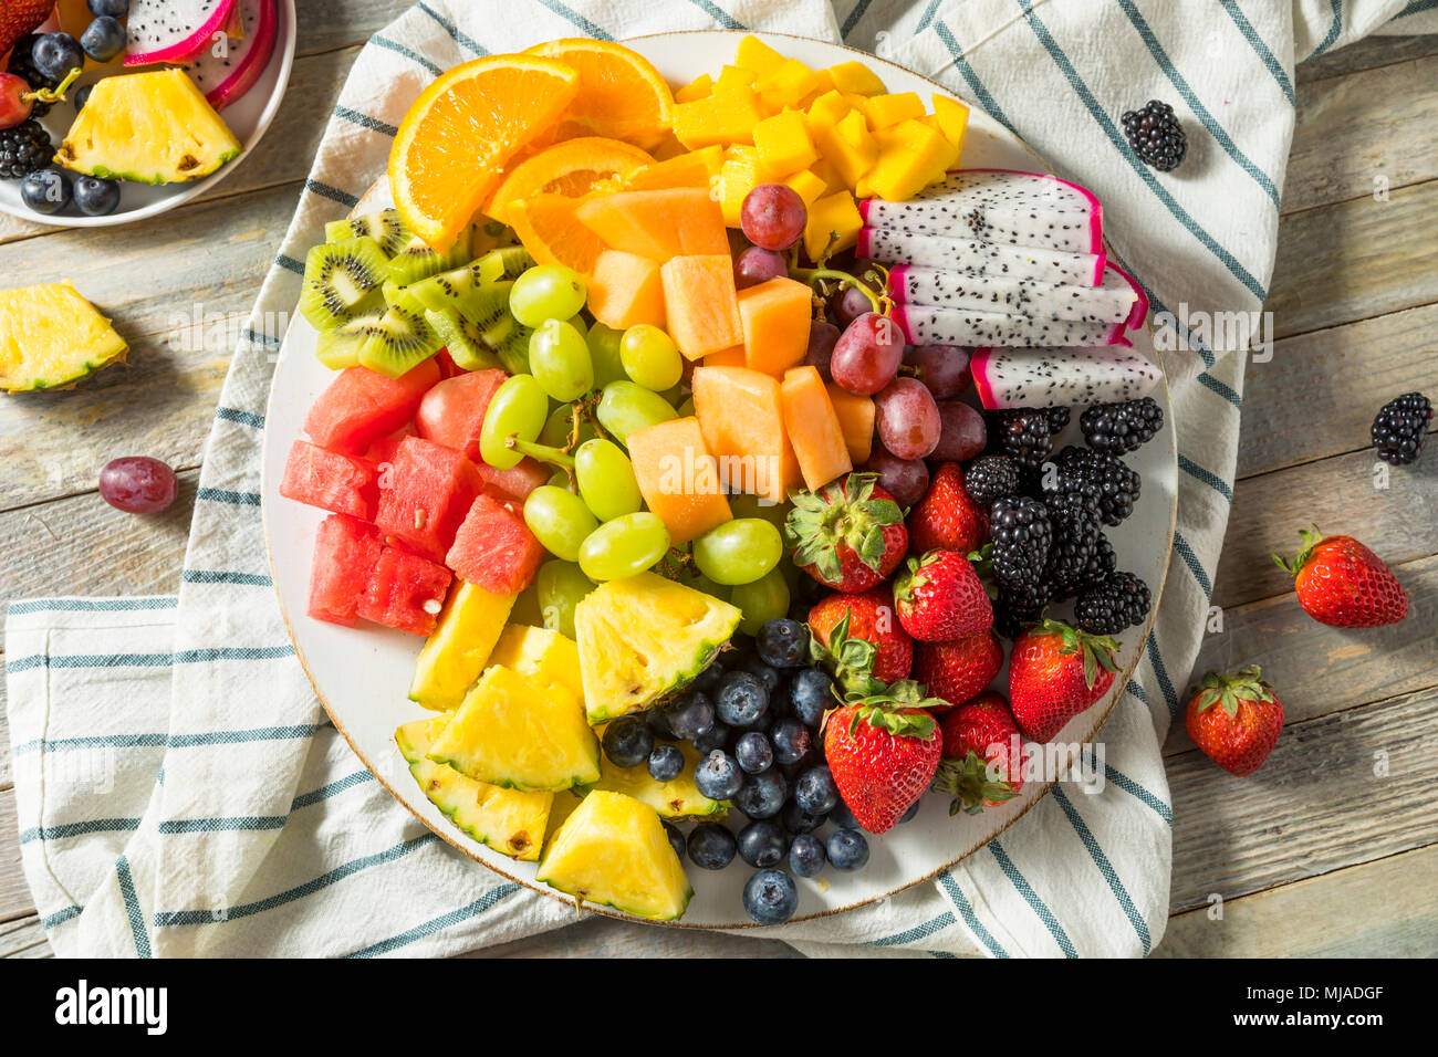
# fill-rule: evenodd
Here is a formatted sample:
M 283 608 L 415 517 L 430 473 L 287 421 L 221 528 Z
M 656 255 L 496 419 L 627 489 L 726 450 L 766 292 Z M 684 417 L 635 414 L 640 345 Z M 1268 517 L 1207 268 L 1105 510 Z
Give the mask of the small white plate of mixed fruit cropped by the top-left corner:
M 0 14 L 0 211 L 131 223 L 213 187 L 279 112 L 293 0 L 16 0 Z

